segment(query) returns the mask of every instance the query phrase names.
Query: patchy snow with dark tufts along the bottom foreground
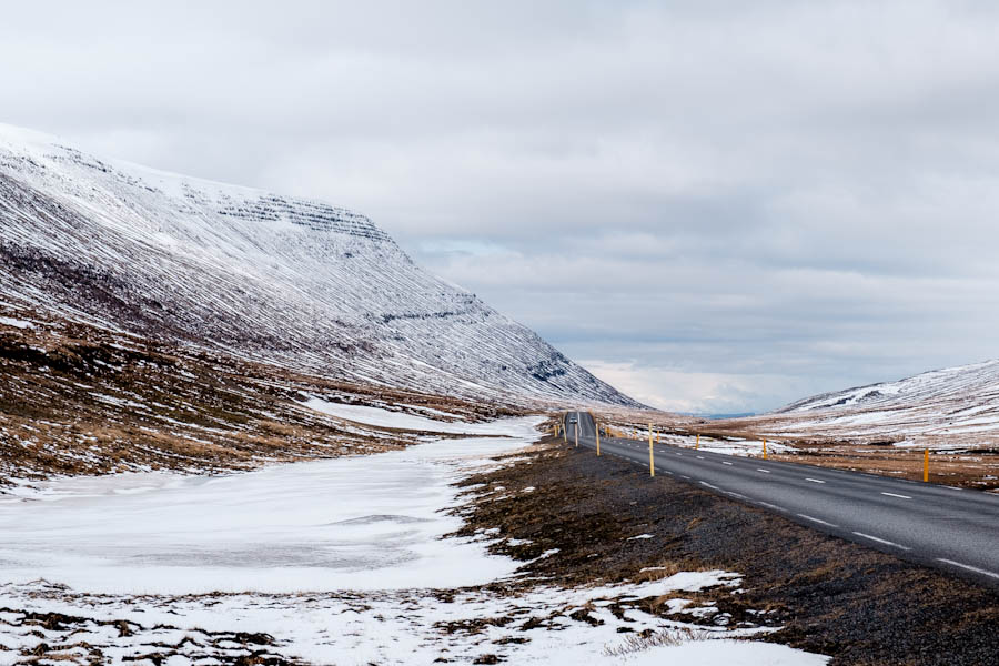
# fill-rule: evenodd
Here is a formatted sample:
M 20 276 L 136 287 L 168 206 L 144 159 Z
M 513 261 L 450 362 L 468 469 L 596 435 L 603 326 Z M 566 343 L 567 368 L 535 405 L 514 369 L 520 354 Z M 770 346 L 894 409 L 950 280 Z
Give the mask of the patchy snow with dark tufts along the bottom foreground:
M 819 666 L 827 662 L 781 645 L 734 640 L 751 637 L 753 630 L 712 628 L 692 634 L 682 623 L 636 607 L 643 597 L 737 583 L 730 575 L 707 572 L 646 585 L 577 591 L 542 587 L 519 596 L 481 589 L 442 596 L 438 591 L 412 589 L 363 595 L 157 596 L 139 603 L 134 597 L 73 595 L 34 584 L 0 588 L 0 601 L 8 607 L 17 604 L 24 609 L 22 614 L 54 610 L 90 619 L 67 623 L 67 632 L 18 626 L 14 614 L 0 613 L 0 629 L 7 629 L 0 633 L 0 645 L 28 649 L 43 642 L 56 645 L 72 632 L 69 643 L 104 646 L 107 663 L 147 654 L 153 647 L 163 654 L 162 646 L 170 645 L 178 646 L 171 665 L 191 664 L 209 663 L 199 659 L 204 654 L 200 646 L 213 643 L 218 644 L 215 654 L 242 654 L 232 638 L 239 630 L 273 636 L 269 654 L 314 664 L 431 664 L 438 658 L 470 664 L 486 655 L 502 656 L 512 664 Z M 677 601 L 682 607 L 683 599 Z M 578 618 L 581 612 L 586 619 Z M 11 623 L 9 628 L 4 620 Z M 128 623 L 124 635 L 121 623 Z M 619 628 L 629 633 L 622 634 Z M 644 629 L 676 636 L 676 644 L 626 656 L 608 654 Z M 0 648 L 0 664 L 7 663 L 13 660 L 6 662 Z

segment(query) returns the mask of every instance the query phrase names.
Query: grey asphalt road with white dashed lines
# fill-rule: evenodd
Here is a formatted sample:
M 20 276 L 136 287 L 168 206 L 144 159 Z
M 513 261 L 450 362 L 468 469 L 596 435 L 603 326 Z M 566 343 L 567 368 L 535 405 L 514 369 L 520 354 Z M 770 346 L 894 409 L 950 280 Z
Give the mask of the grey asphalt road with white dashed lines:
M 593 417 L 566 414 L 596 446 Z M 656 475 L 700 485 L 848 541 L 999 586 L 999 495 L 656 444 Z M 601 437 L 601 453 L 648 470 L 648 442 Z

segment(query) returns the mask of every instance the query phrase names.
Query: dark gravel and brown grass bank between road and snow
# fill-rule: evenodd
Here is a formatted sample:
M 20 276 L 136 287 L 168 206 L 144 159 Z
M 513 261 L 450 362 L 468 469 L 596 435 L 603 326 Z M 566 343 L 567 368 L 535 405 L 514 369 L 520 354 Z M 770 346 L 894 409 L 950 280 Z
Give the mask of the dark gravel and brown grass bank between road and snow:
M 465 484 L 473 502 L 458 534 L 498 527 L 529 539 L 494 546 L 524 561 L 558 548 L 527 564 L 531 575 L 573 585 L 634 581 L 650 566 L 724 568 L 745 575 L 745 592 L 706 593 L 719 612 L 734 624 L 781 626 L 769 640 L 831 655 L 835 666 L 999 664 L 996 589 L 650 478 L 613 456 L 548 438 Z M 645 533 L 654 538 L 628 541 Z

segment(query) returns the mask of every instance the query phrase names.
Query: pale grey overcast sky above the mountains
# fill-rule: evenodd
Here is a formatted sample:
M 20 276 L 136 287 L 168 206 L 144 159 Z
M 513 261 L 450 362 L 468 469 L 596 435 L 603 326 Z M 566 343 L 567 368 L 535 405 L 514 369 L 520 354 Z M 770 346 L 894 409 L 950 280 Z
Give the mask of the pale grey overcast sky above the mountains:
M 0 122 L 321 198 L 648 404 L 999 356 L 993 2 L 20 2 Z

